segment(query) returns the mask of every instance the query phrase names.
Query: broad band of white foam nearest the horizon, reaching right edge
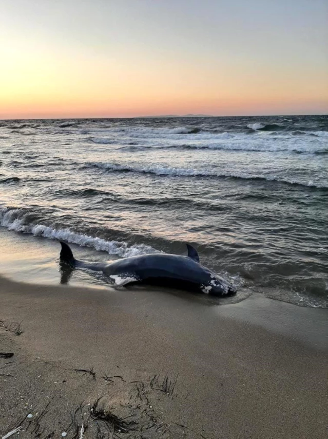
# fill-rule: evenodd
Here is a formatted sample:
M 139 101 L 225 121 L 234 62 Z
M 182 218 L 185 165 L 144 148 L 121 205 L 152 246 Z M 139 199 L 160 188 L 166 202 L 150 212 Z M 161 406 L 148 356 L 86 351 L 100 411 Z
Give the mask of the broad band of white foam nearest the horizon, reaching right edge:
M 133 127 L 117 131 L 110 129 L 97 133 L 86 140 L 97 144 L 135 145 L 134 150 L 151 149 L 212 149 L 224 151 L 297 152 L 320 153 L 327 149 L 325 131 L 272 132 L 263 131 L 261 123 L 249 124 L 253 134 L 245 132 L 216 132 L 177 127 L 174 129 L 146 129 Z M 194 130 L 194 131 L 193 131 Z M 275 130 L 274 130 L 275 131 Z M 184 133 L 184 134 L 183 134 Z M 300 141 L 300 136 L 302 139 Z M 139 145 L 139 146 L 138 146 Z

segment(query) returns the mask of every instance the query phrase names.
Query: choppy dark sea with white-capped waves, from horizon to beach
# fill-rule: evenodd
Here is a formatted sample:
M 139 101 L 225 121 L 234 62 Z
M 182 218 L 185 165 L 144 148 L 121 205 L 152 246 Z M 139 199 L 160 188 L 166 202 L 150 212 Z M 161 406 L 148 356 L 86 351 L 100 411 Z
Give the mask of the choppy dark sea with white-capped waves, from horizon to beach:
M 327 220 L 326 115 L 0 121 L 16 239 L 98 260 L 190 243 L 241 290 L 327 307 Z

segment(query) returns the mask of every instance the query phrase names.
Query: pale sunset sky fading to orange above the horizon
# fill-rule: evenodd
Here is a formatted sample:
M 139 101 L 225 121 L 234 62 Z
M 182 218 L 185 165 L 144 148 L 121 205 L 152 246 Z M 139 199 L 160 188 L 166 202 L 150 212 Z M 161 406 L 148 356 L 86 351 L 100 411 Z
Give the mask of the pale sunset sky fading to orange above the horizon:
M 328 113 L 326 0 L 0 0 L 0 119 Z

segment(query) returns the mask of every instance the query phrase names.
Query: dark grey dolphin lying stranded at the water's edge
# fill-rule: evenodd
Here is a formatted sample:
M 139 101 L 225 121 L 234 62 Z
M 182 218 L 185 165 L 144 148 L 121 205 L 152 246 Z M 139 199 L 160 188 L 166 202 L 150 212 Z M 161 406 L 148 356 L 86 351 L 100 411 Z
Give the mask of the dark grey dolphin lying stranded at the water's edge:
M 117 286 L 131 282 L 148 282 L 160 285 L 198 290 L 214 296 L 232 296 L 236 288 L 199 263 L 194 247 L 187 244 L 188 256 L 153 253 L 118 259 L 112 262 L 84 262 L 73 257 L 70 247 L 61 241 L 60 259 L 74 267 L 103 271 Z

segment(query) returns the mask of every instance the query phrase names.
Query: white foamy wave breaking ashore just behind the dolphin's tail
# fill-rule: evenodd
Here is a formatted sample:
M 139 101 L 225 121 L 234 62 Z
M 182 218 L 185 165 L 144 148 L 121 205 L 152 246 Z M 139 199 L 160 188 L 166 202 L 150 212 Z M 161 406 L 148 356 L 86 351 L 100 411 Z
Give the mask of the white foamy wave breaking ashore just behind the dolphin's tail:
M 121 258 L 137 256 L 146 253 L 160 253 L 146 244 L 129 246 L 122 241 L 107 241 L 100 237 L 94 237 L 83 233 L 76 233 L 69 228 L 54 228 L 43 224 L 34 224 L 29 218 L 31 212 L 28 209 L 0 207 L 0 226 L 8 230 L 21 233 L 30 233 L 34 236 L 43 236 L 50 240 L 64 240 L 81 247 L 92 247 L 97 251 L 106 251 L 108 254 L 117 255 Z

